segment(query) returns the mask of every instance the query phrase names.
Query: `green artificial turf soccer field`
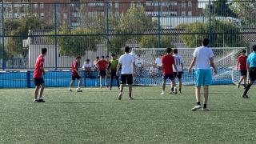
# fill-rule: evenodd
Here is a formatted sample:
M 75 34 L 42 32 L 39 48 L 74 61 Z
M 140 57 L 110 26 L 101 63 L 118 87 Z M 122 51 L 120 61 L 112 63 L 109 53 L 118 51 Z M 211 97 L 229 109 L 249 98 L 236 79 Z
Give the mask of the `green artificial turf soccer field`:
M 0 90 L 0 143 L 254 143 L 255 87 L 242 98 L 236 86 L 210 88 L 211 111 L 190 109 L 194 87 L 160 95 L 161 87 L 118 90 L 46 88 L 45 103 L 33 89 Z M 168 87 L 168 90 L 170 88 Z

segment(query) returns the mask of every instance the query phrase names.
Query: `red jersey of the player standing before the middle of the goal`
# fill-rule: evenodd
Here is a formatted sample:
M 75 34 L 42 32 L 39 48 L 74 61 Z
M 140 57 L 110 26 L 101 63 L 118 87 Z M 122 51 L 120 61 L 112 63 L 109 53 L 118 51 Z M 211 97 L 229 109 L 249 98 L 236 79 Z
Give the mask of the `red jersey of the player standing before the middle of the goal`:
M 162 72 L 163 74 L 174 74 L 173 64 L 174 57 L 171 54 L 166 54 L 162 57 Z

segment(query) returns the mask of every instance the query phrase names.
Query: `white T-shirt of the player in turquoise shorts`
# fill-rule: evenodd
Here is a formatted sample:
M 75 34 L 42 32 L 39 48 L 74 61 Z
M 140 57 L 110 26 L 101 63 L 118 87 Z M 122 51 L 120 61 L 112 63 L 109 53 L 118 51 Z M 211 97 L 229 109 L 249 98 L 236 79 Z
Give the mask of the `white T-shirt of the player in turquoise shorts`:
M 201 46 L 194 50 L 193 53 L 195 62 L 195 69 L 210 69 L 210 58 L 214 57 L 213 50 L 209 47 Z

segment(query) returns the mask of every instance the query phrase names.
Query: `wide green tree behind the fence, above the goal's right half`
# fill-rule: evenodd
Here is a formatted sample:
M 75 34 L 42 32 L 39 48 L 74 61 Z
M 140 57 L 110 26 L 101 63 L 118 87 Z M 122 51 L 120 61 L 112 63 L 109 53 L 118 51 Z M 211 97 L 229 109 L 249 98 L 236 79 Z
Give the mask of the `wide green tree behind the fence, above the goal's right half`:
M 181 25 L 177 28 L 185 30 L 182 36 L 186 46 L 197 47 L 202 45 L 202 39 L 208 37 L 209 23 L 194 22 L 188 25 Z M 211 25 L 212 39 L 211 46 L 213 47 L 239 47 L 246 46 L 246 42 L 239 34 L 240 28 L 234 26 L 231 22 L 222 22 L 214 20 Z

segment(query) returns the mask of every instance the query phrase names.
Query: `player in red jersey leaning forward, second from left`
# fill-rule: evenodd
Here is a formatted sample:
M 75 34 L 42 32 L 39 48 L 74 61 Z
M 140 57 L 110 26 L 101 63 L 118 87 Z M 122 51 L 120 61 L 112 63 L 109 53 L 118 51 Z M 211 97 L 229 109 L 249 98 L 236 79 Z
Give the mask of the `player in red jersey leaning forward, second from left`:
M 70 92 L 72 91 L 71 87 L 73 86 L 75 79 L 78 79 L 77 92 L 82 92 L 82 90 L 81 90 L 82 78 L 81 78 L 81 76 L 79 74 L 79 71 L 78 71 L 80 61 L 81 61 L 81 57 L 78 56 L 77 58 L 75 58 L 75 61 L 72 62 L 72 79 L 71 79 L 71 82 L 70 82 Z

